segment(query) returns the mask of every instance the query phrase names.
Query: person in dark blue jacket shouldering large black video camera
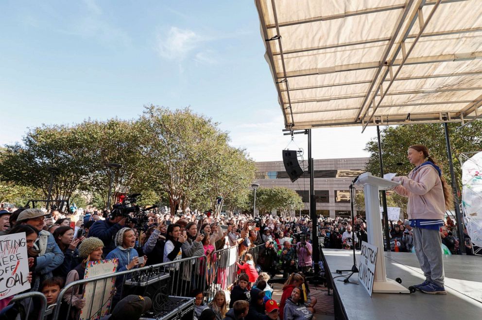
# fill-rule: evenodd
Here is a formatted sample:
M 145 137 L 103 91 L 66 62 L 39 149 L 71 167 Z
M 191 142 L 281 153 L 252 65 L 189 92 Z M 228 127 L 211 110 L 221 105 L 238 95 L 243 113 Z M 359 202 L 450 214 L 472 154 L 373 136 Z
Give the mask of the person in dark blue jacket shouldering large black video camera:
M 121 230 L 127 218 L 121 215 L 118 210 L 113 210 L 105 220 L 97 220 L 89 229 L 89 236 L 95 236 L 102 240 L 104 244 L 103 253 L 107 255 L 116 248 L 114 238 Z

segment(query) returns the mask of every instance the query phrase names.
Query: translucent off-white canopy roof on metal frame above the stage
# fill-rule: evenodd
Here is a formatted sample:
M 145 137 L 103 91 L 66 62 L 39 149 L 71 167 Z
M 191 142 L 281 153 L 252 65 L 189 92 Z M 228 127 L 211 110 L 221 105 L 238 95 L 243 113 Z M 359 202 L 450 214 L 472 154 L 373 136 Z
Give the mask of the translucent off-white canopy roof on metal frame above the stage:
M 482 117 L 482 0 L 255 0 L 287 129 Z

